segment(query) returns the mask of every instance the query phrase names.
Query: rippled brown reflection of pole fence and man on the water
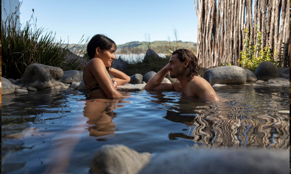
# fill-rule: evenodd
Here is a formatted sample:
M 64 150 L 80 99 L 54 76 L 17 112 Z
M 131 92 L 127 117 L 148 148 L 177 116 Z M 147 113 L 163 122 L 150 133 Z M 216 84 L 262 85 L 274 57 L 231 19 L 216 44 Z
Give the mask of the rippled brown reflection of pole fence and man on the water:
M 233 102 L 206 102 L 189 97 L 155 94 L 151 102 L 170 106 L 163 118 L 189 126 L 188 133 L 169 133 L 169 139 L 191 139 L 202 147 L 289 147 L 289 123 L 284 114 L 254 111 L 252 106 Z M 272 97 L 272 96 L 271 96 Z M 274 98 L 276 96 L 273 96 Z M 270 102 L 276 105 L 276 102 Z M 257 107 L 256 107 L 257 108 Z M 260 108 L 260 107 L 259 107 Z M 251 114 L 248 114 L 251 111 Z

